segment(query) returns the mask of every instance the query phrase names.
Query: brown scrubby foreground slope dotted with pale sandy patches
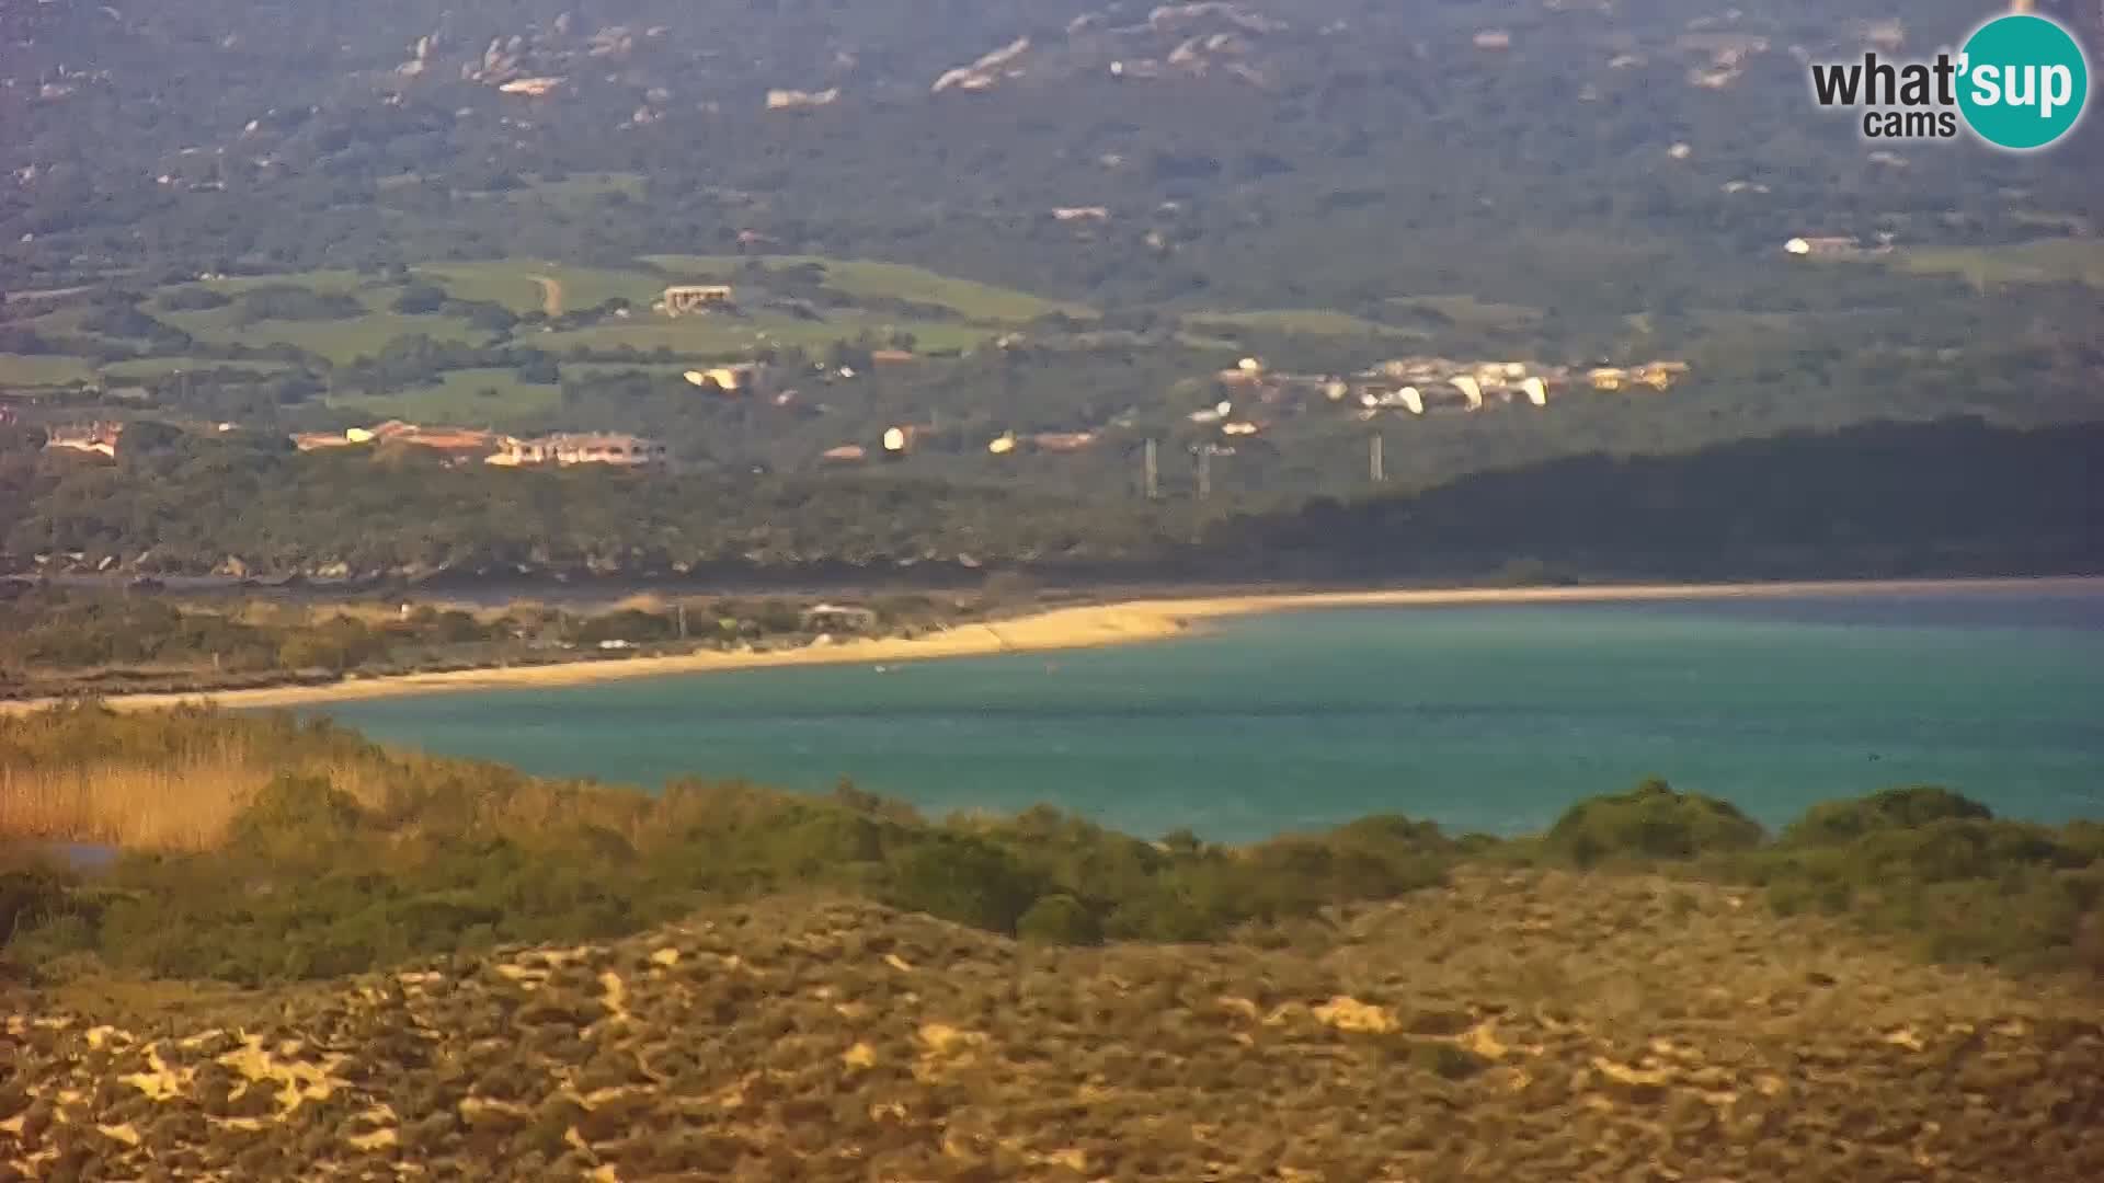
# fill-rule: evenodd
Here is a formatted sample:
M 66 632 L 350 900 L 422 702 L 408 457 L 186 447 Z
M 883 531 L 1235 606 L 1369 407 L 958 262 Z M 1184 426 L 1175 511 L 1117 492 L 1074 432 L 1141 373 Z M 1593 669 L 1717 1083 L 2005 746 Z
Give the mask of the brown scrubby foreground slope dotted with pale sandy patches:
M 6 998 L 0 1179 L 2104 1179 L 2104 1000 L 1652 878 L 1252 945 L 774 901 L 248 998 Z

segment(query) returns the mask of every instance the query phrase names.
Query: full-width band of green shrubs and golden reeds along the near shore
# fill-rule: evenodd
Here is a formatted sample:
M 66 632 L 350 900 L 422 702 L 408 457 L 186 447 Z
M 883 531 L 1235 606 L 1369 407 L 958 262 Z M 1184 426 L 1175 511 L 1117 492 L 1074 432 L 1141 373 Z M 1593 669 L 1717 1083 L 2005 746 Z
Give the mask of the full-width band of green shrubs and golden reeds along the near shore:
M 141 766 L 166 770 L 154 800 L 93 789 L 109 779 L 143 798 Z M 185 779 L 198 768 L 213 777 Z M 1368 817 L 1225 848 L 1191 834 L 1147 842 L 1054 808 L 930 821 L 846 783 L 814 798 L 684 779 L 646 796 L 393 756 L 326 722 L 210 711 L 6 718 L 0 770 L 11 802 L 57 802 L 0 817 L 11 838 L 109 838 L 141 825 L 139 810 L 223 815 L 217 831 L 126 850 L 88 880 L 38 863 L 0 871 L 0 933 L 13 935 L 0 956 L 44 973 L 90 954 L 166 977 L 326 977 L 614 937 L 785 890 L 1031 941 L 1265 941 L 1477 861 L 1723 880 L 1931 958 L 2104 975 L 2104 825 L 2001 821 L 1931 787 L 1822 804 L 1774 838 L 1727 802 L 1654 781 L 1580 802 L 1540 838 Z

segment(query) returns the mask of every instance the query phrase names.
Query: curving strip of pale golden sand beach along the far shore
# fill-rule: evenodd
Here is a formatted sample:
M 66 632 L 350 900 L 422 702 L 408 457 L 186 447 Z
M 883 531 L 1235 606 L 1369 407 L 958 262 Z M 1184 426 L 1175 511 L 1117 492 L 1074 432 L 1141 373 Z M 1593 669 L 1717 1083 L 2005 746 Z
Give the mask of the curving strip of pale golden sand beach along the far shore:
M 250 690 L 141 693 L 103 699 L 114 709 L 154 709 L 183 703 L 215 703 L 227 709 L 305 707 L 351 699 L 400 695 L 431 695 L 448 690 L 522 690 L 549 686 L 583 686 L 627 678 L 667 678 L 680 674 L 726 674 L 736 669 L 770 669 L 785 665 L 854 665 L 907 663 L 945 657 L 991 657 L 1002 653 L 1056 653 L 1067 648 L 1098 648 L 1138 644 L 1182 636 L 1201 621 L 1283 613 L 1300 608 L 1408 608 L 1462 604 L 1584 604 L 1584 602 L 1647 602 L 1647 600 L 1755 600 L 1788 596 L 1894 596 L 1917 592 L 2051 592 L 2104 589 L 2104 579 L 1875 579 L 1875 581 L 1791 581 L 1791 583 L 1624 583 L 1597 587 L 1424 587 L 1368 592 L 1277 592 L 1239 596 L 1191 596 L 1161 600 L 1126 600 L 1048 608 L 1010 621 L 974 623 L 940 634 L 905 638 L 863 638 L 835 644 L 770 653 L 690 653 L 669 657 L 631 657 L 621 661 L 564 661 L 555 665 L 515 665 L 488 669 L 454 669 L 442 674 L 402 674 L 389 678 L 347 676 L 322 686 L 261 686 Z M 0 703 L 0 714 L 23 714 L 53 705 L 57 699 L 19 699 Z

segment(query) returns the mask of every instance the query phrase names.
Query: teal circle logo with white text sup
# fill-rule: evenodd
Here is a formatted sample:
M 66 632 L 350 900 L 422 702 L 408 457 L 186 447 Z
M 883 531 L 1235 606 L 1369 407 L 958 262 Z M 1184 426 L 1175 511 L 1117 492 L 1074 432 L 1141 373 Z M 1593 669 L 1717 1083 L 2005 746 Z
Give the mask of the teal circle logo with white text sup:
M 2068 135 L 2089 99 L 2089 61 L 2045 17 L 1997 17 L 1959 57 L 1959 109 L 1974 135 L 2028 152 Z

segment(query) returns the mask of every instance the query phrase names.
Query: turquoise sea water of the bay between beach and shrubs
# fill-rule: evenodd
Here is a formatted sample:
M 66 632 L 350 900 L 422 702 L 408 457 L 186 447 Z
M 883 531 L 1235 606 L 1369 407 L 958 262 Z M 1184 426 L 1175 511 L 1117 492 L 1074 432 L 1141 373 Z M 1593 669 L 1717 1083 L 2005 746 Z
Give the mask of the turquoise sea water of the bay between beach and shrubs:
M 534 773 L 682 773 L 930 813 L 1052 802 L 1250 840 L 1368 813 L 1540 829 L 1643 777 L 1769 825 L 1938 783 L 2104 817 L 2104 594 L 1300 610 L 1159 644 L 330 707 Z

